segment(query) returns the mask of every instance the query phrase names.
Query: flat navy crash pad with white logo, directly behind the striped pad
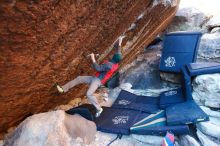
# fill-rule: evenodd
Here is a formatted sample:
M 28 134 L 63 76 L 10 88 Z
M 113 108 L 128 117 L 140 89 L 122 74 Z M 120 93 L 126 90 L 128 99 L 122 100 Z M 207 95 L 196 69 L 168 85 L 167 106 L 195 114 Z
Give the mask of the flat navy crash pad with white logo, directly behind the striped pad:
M 159 111 L 158 103 L 159 97 L 138 96 L 122 90 L 112 107 L 156 113 Z

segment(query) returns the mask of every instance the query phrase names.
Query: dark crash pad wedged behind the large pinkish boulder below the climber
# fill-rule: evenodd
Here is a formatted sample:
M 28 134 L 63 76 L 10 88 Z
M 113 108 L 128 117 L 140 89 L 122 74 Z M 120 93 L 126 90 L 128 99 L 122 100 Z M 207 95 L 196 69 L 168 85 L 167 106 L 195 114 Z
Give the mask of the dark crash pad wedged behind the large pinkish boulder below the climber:
M 79 114 L 87 120 L 94 121 L 96 108 L 92 104 L 83 104 L 67 110 L 66 113 L 70 115 Z

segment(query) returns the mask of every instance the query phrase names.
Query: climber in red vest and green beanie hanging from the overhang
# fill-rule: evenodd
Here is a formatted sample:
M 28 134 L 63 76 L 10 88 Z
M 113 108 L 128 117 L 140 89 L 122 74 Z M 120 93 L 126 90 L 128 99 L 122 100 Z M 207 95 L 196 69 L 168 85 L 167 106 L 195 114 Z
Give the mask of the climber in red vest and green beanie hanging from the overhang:
M 89 84 L 89 89 L 86 93 L 86 96 L 88 97 L 89 102 L 91 102 L 96 107 L 96 117 L 99 117 L 103 109 L 101 108 L 100 104 L 98 103 L 95 96 L 93 96 L 93 93 L 97 90 L 98 87 L 101 85 L 105 85 L 105 83 L 112 77 L 112 75 L 117 71 L 118 69 L 118 63 L 121 61 L 121 44 L 124 36 L 120 36 L 119 39 L 114 44 L 115 54 L 112 57 L 111 60 L 104 62 L 103 64 L 99 65 L 96 63 L 95 54 L 90 54 L 93 67 L 97 71 L 95 76 L 78 76 L 74 80 L 66 83 L 63 86 L 56 85 L 57 90 L 60 93 L 65 93 L 69 89 L 73 88 L 74 86 L 78 84 Z

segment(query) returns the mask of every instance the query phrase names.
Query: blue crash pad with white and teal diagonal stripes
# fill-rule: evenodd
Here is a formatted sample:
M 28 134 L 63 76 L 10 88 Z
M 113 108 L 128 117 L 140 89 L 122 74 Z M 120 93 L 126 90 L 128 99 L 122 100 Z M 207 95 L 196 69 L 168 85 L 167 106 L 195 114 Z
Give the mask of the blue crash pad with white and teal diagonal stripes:
M 131 133 L 142 135 L 165 135 L 167 131 L 177 135 L 189 133 L 187 125 L 167 126 L 165 111 L 163 110 L 156 114 L 146 115 L 146 117 L 143 117 L 144 115 L 145 113 L 141 113 L 139 117 L 142 119 L 137 119 L 130 128 Z

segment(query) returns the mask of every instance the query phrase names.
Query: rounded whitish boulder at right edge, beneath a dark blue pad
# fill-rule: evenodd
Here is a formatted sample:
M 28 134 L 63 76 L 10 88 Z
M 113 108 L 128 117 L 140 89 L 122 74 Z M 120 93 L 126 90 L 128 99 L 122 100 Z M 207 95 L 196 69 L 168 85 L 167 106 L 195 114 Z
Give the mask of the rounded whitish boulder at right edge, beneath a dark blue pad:
M 193 81 L 193 98 L 200 105 L 220 108 L 220 74 L 197 76 Z

